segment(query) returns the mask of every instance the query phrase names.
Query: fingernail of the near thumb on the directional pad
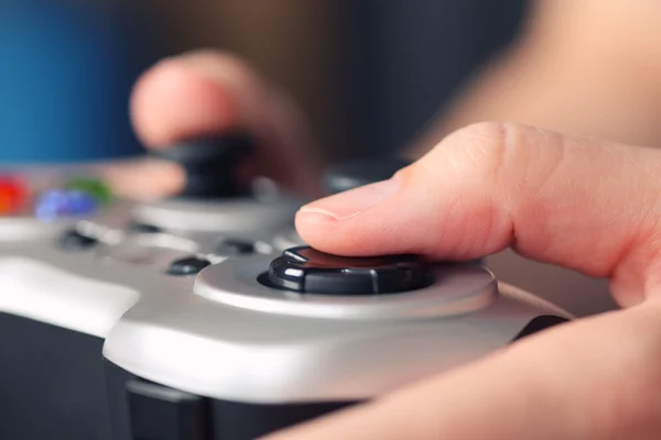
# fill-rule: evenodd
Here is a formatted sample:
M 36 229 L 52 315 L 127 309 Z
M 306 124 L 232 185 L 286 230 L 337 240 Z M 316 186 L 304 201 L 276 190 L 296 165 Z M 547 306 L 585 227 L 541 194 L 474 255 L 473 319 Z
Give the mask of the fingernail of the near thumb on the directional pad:
M 381 180 L 313 201 L 300 211 L 344 220 L 376 207 L 395 194 L 399 187 L 397 179 Z

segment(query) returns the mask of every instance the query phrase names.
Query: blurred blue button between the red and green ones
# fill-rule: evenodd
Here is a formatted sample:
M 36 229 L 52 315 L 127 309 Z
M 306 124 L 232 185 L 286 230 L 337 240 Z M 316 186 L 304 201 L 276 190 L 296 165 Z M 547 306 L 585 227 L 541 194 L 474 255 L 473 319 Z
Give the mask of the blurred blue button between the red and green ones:
M 42 194 L 36 200 L 35 216 L 42 221 L 59 218 L 86 217 L 95 213 L 98 201 L 76 190 L 51 190 Z

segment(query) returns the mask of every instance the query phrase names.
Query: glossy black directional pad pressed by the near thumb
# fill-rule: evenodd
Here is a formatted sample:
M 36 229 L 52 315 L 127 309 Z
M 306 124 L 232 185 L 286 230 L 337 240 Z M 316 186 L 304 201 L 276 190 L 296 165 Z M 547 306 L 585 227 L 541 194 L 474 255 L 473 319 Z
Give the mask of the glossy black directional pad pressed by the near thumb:
M 425 287 L 427 273 L 415 255 L 345 257 L 300 246 L 271 262 L 268 280 L 301 293 L 376 295 Z

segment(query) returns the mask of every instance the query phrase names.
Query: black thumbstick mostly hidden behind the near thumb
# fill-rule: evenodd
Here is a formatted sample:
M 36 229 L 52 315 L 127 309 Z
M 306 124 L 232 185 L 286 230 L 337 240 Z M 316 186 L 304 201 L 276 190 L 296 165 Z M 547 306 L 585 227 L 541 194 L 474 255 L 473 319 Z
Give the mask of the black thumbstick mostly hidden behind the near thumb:
M 401 168 L 411 165 L 401 157 L 364 157 L 329 167 L 324 173 L 326 194 L 337 194 L 359 186 L 386 180 Z

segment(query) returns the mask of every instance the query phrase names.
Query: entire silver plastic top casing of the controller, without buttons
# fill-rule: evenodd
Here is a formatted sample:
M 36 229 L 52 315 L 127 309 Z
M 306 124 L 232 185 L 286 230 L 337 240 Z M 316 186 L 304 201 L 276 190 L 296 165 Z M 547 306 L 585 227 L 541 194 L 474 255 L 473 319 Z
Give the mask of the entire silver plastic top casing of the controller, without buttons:
M 58 230 L 4 219 L 0 311 L 105 338 L 104 355 L 147 380 L 250 403 L 375 397 L 498 350 L 540 315 L 570 317 L 527 293 L 498 292 L 476 266 L 438 266 L 430 287 L 370 298 L 266 287 L 257 276 L 271 258 L 301 244 L 297 206 L 286 197 L 121 202 L 75 222 L 100 240 L 79 251 L 59 249 Z M 165 231 L 132 233 L 133 220 Z M 262 243 L 264 255 L 216 255 L 228 237 Z M 213 265 L 167 275 L 188 254 Z

